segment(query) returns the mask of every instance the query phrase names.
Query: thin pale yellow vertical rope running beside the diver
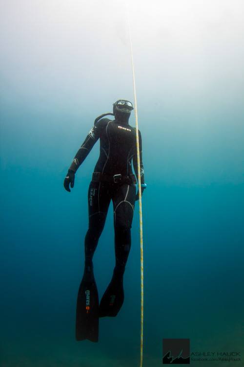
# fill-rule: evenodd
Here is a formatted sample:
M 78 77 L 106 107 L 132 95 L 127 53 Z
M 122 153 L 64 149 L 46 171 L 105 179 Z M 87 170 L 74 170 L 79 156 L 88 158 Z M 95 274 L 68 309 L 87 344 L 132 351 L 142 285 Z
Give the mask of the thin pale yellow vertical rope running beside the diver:
M 141 357 L 140 367 L 142 367 L 143 356 L 143 236 L 142 236 L 142 189 L 141 189 L 141 165 L 140 165 L 140 146 L 139 146 L 139 133 L 138 133 L 138 114 L 137 114 L 137 96 L 136 96 L 136 82 L 135 82 L 135 69 L 132 52 L 132 40 L 130 33 L 129 16 L 127 11 L 129 38 L 130 38 L 130 54 L 131 65 L 133 74 L 133 91 L 134 91 L 134 107 L 135 107 L 135 119 L 136 119 L 136 143 L 137 143 L 137 171 L 138 171 L 138 190 L 139 190 L 139 218 L 140 218 L 140 248 L 141 248 Z

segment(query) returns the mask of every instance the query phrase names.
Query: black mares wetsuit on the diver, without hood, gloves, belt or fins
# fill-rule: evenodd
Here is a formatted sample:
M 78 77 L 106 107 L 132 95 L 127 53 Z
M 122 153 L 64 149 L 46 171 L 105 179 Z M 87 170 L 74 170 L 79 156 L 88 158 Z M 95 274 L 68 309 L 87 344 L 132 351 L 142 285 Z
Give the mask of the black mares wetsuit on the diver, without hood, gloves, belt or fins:
M 76 172 L 96 141 L 100 138 L 100 157 L 94 172 L 102 177 L 121 174 L 130 178 L 132 162 L 137 175 L 136 129 L 128 123 L 102 118 L 85 138 L 77 152 L 70 170 Z M 142 138 L 139 132 L 141 182 L 144 183 L 142 164 Z M 94 176 L 93 176 L 94 177 Z M 110 201 L 114 208 L 115 254 L 114 275 L 123 275 L 131 246 L 132 225 L 136 185 L 127 179 L 119 183 L 91 181 L 88 190 L 89 228 L 85 236 L 85 267 L 92 266 L 92 257 L 105 224 Z

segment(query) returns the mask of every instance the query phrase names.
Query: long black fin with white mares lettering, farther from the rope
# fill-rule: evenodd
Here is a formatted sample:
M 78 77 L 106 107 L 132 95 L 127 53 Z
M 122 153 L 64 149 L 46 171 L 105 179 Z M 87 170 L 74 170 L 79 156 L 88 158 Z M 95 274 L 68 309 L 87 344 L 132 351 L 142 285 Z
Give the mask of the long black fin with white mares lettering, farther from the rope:
M 99 298 L 93 267 L 85 266 L 77 297 L 76 340 L 98 342 Z

